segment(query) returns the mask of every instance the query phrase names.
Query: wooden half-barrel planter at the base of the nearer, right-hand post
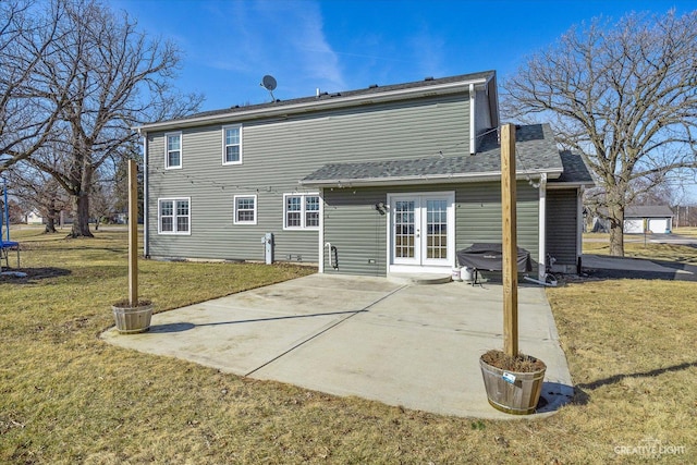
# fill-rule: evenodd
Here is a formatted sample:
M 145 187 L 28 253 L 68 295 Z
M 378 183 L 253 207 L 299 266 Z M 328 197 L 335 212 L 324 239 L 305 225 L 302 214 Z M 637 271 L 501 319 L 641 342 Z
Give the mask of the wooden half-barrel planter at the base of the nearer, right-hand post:
M 512 371 L 498 368 L 479 358 L 481 376 L 489 404 L 501 412 L 512 415 L 534 414 L 542 392 L 542 382 L 547 366 L 534 357 L 537 369 L 534 371 Z

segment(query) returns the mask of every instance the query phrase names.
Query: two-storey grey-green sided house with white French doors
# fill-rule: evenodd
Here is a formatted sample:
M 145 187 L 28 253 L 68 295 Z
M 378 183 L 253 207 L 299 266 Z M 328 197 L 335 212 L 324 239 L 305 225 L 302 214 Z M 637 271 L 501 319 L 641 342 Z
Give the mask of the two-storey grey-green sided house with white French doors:
M 145 255 L 450 273 L 501 242 L 500 124 L 491 71 L 145 124 Z M 517 127 L 516 161 L 518 245 L 575 271 L 585 163 L 548 124 Z

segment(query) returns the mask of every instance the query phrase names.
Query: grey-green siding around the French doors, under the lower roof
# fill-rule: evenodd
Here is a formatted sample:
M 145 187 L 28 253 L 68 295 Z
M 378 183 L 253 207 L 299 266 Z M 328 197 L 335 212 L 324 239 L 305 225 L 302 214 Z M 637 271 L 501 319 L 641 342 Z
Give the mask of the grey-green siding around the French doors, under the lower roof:
M 455 249 L 475 242 L 501 242 L 501 185 L 499 183 L 333 188 L 323 191 L 325 243 L 337 247 L 339 269 L 330 265 L 325 248 L 326 273 L 386 276 L 388 270 L 388 216 L 375 205 L 388 194 L 455 192 Z M 518 245 L 538 260 L 538 192 L 517 184 Z M 371 262 L 375 260 L 375 262 Z

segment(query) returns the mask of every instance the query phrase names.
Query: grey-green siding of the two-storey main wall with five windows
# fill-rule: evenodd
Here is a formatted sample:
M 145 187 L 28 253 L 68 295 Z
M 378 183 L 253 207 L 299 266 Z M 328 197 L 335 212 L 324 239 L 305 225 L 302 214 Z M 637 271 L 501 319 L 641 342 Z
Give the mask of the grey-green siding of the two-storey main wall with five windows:
M 288 119 L 182 130 L 182 169 L 164 169 L 164 133 L 148 140 L 148 253 L 152 257 L 318 262 L 317 231 L 283 230 L 283 194 L 329 162 L 468 154 L 468 96 L 407 100 Z M 242 164 L 222 164 L 222 127 L 242 124 Z M 233 197 L 257 195 L 257 224 L 233 224 Z M 158 198 L 191 197 L 191 235 L 158 234 Z

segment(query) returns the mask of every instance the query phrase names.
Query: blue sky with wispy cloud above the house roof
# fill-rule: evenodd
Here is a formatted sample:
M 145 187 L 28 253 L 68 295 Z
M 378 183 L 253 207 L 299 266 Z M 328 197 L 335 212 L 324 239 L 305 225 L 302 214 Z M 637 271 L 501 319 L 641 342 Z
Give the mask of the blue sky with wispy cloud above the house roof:
M 697 0 L 398 1 L 111 0 L 139 28 L 183 52 L 180 90 L 201 93 L 201 110 L 261 103 L 259 83 L 285 100 L 496 70 L 505 78 L 525 56 L 594 16 L 678 13 Z

